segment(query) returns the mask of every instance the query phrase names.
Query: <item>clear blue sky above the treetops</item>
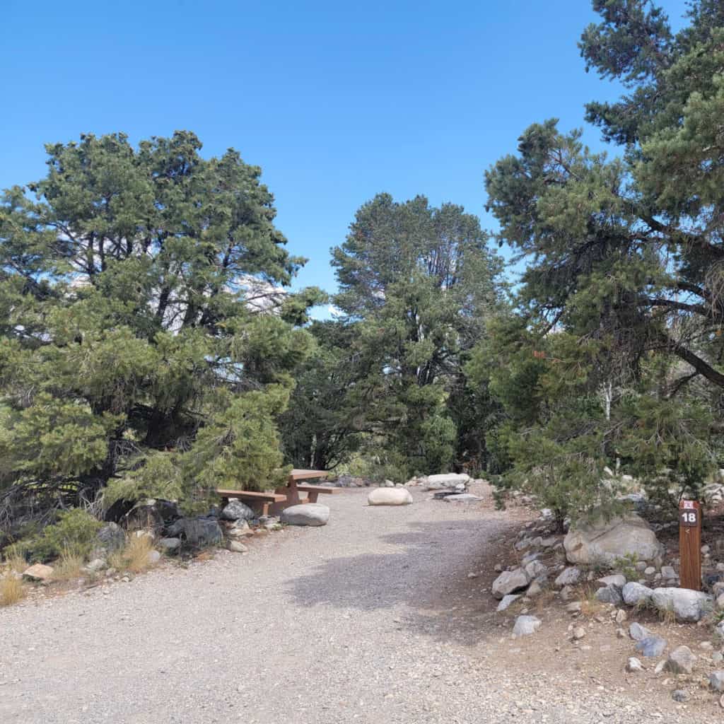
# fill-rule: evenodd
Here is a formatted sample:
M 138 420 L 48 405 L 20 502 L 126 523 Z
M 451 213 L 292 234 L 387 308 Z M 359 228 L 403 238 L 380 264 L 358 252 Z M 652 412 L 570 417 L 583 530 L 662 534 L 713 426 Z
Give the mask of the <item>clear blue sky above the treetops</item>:
M 264 169 L 279 228 L 334 289 L 329 248 L 375 193 L 484 214 L 483 172 L 531 122 L 582 125 L 616 88 L 584 72 L 588 0 L 2 0 L 0 188 L 43 143 L 193 130 Z M 683 0 L 662 0 L 675 26 Z M 598 146 L 595 130 L 586 140 Z

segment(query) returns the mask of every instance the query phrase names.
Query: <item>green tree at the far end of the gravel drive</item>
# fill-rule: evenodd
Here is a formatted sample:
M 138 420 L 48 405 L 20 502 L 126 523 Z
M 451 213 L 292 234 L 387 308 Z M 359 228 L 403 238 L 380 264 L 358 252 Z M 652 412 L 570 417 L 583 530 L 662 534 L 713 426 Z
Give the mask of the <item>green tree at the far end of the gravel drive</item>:
M 358 210 L 332 264 L 334 303 L 355 330 L 345 414 L 371 435 L 369 455 L 390 460 L 383 465 L 395 479 L 483 467 L 493 403 L 478 395 L 459 404 L 468 355 L 501 304 L 500 260 L 478 219 L 450 203 L 434 209 L 422 196 L 397 203 L 379 194 Z

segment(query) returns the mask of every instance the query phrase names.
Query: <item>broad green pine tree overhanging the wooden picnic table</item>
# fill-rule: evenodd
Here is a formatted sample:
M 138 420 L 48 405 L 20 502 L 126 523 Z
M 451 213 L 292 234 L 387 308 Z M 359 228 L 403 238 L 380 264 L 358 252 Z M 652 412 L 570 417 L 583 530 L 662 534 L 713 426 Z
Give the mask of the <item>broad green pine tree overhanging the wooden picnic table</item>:
M 83 135 L 0 203 L 0 527 L 80 500 L 266 487 L 313 350 L 261 169 L 190 132 Z

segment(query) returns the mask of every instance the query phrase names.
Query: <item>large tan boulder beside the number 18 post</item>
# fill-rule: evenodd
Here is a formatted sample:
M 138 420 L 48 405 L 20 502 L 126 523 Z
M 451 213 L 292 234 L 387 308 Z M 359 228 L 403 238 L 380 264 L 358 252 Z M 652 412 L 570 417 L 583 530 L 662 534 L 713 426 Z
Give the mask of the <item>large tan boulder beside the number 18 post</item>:
M 617 558 L 634 555 L 653 560 L 662 546 L 643 518 L 633 513 L 623 518 L 584 523 L 563 539 L 565 555 L 571 563 L 613 563 Z

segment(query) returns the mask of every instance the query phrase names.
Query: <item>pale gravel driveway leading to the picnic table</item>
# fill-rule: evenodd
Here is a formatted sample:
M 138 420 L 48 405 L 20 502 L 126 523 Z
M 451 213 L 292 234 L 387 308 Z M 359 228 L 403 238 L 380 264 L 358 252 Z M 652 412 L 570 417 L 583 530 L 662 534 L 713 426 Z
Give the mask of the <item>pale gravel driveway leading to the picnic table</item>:
M 0 610 L 0 722 L 691 720 L 660 696 L 562 675 L 537 635 L 511 654 L 484 589 L 515 515 L 415 495 L 369 508 L 345 491 L 324 528 L 254 539 L 246 555 Z M 523 666 L 528 654 L 542 663 Z

